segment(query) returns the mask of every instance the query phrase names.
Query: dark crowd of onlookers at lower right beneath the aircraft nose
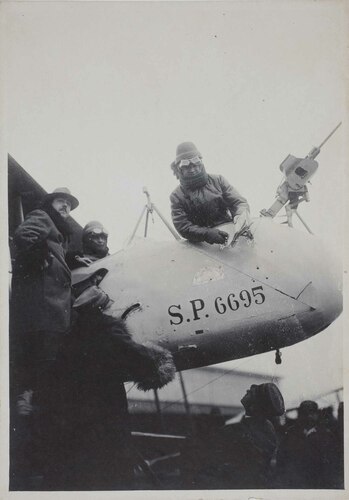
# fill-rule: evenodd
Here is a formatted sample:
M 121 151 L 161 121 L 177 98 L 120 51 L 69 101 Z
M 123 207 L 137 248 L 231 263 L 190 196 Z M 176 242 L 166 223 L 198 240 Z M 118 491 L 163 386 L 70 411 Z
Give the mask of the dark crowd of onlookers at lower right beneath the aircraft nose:
M 240 422 L 224 424 L 222 415 L 207 416 L 203 429 L 185 443 L 179 460 L 181 487 L 344 487 L 343 403 L 334 418 L 331 407 L 319 409 L 315 401 L 305 400 L 297 419 L 289 419 L 274 384 L 251 386 L 241 402 L 245 415 Z

